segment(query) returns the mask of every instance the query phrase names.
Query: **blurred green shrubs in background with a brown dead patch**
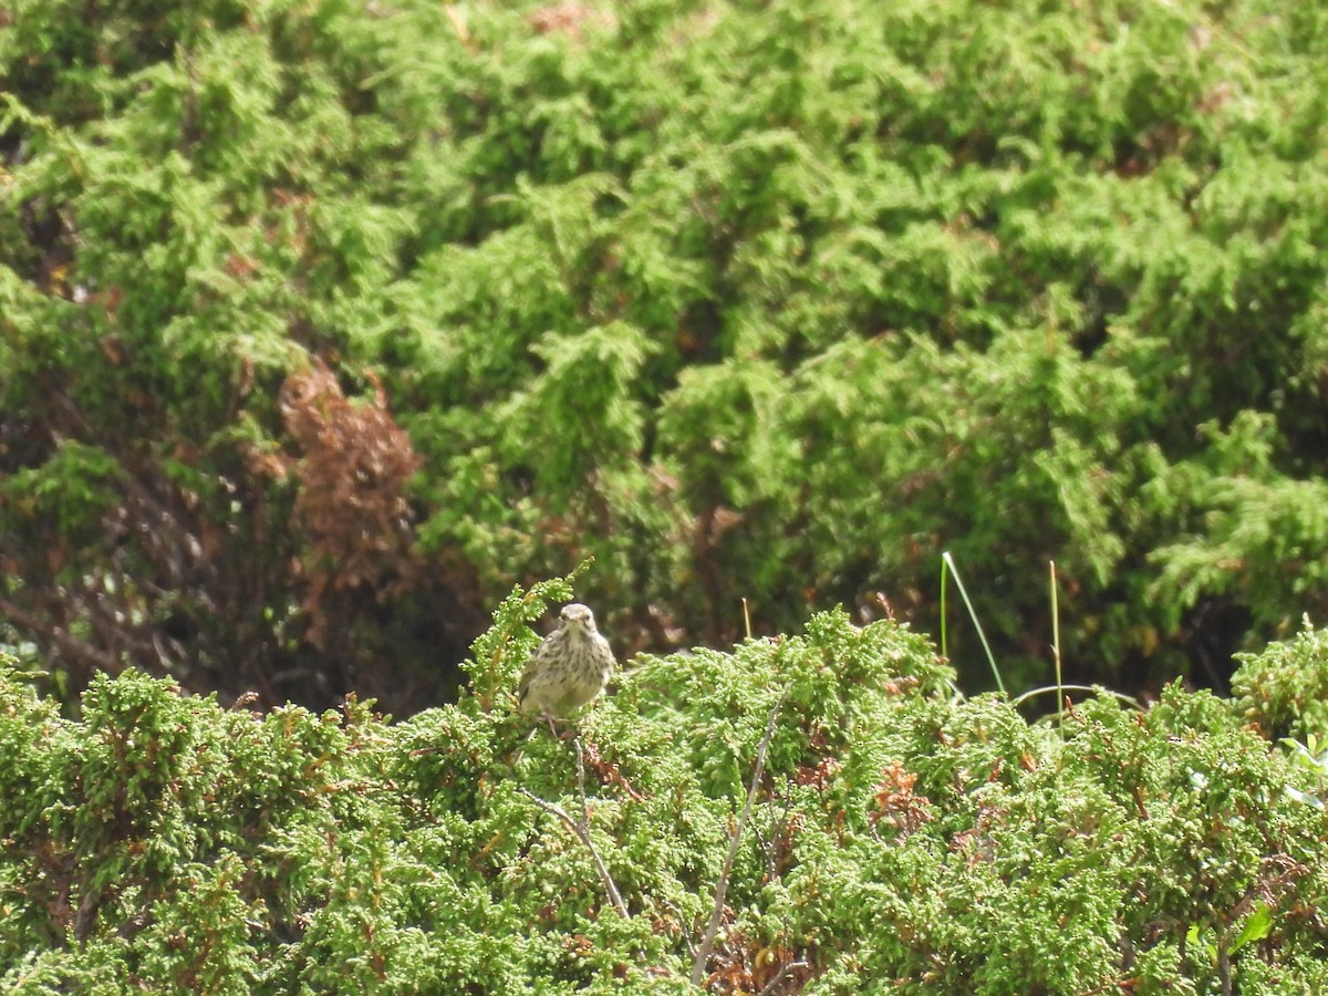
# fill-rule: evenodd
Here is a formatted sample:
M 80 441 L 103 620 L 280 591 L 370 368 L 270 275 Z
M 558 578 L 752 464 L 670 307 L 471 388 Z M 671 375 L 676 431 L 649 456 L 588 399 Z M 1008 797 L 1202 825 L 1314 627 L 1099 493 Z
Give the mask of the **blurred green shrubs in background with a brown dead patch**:
M 1325 607 L 1325 31 L 15 0 L 0 640 L 72 692 L 413 709 L 587 554 L 664 649 L 741 598 L 935 632 L 950 550 L 1007 669 L 1045 665 L 1054 559 L 1072 672 L 1220 685 Z

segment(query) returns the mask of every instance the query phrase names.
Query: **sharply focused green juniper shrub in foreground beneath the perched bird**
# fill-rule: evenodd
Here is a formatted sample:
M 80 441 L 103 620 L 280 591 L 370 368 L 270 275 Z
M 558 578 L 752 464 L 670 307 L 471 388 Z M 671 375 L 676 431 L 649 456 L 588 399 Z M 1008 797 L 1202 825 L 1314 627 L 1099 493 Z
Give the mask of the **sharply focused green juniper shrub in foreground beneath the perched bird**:
M 134 671 L 97 677 L 76 722 L 7 669 L 0 985 L 1328 987 L 1328 754 L 1256 725 L 1289 696 L 1246 716 L 1173 685 L 1146 713 L 1102 697 L 1031 725 L 957 696 L 906 625 L 837 611 L 733 653 L 637 660 L 576 724 L 582 797 L 571 744 L 531 732 L 511 693 L 526 623 L 567 594 L 513 594 L 471 689 L 394 725 L 356 703 L 228 710 Z M 1325 645 L 1307 631 L 1242 680 L 1321 687 Z

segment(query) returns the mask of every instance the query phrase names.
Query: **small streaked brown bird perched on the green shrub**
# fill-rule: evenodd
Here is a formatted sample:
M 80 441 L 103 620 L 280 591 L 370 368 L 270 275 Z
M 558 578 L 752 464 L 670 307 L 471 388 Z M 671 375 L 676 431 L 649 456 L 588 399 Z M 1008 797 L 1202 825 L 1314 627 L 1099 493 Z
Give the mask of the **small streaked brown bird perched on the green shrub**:
M 612 675 L 614 651 L 595 627 L 595 614 L 574 602 L 521 672 L 517 701 L 525 713 L 564 718 L 603 692 Z

